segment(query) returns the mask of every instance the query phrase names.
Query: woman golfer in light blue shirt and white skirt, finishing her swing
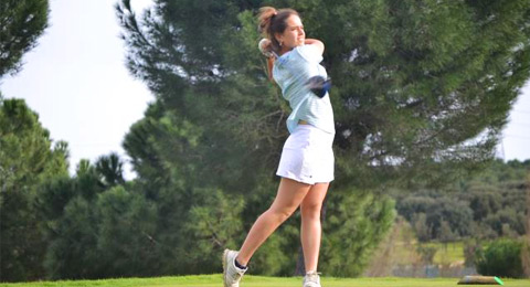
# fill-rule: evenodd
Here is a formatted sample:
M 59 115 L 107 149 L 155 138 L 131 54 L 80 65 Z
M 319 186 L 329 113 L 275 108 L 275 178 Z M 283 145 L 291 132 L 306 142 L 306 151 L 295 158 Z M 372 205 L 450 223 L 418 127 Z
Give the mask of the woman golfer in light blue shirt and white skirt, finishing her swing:
M 333 111 L 325 82 L 324 44 L 306 39 L 298 13 L 292 9 L 259 10 L 259 30 L 266 40 L 259 50 L 269 61 L 274 81 L 282 88 L 293 113 L 287 119 L 290 136 L 284 145 L 279 167 L 282 177 L 271 208 L 254 223 L 240 251 L 225 249 L 223 273 L 225 287 L 239 287 L 247 263 L 265 240 L 300 206 L 301 246 L 306 267 L 304 287 L 320 287 L 317 274 L 320 249 L 320 210 L 333 180 Z M 272 70 L 272 71 L 271 71 Z

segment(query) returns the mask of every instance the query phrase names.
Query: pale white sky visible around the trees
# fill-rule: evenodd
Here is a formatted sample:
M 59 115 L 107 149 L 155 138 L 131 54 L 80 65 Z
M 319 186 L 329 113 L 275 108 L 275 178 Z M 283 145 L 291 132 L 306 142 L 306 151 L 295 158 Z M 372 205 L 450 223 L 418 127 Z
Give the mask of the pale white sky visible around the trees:
M 24 98 L 39 114 L 51 138 L 70 146 L 71 172 L 81 159 L 94 162 L 117 152 L 130 126 L 155 98 L 126 68 L 112 0 L 50 0 L 50 26 L 23 57 L 22 71 L 6 76 L 6 98 Z M 140 14 L 151 0 L 131 0 Z M 497 155 L 505 160 L 530 159 L 530 82 L 522 88 L 502 131 Z M 134 178 L 130 164 L 126 179 Z

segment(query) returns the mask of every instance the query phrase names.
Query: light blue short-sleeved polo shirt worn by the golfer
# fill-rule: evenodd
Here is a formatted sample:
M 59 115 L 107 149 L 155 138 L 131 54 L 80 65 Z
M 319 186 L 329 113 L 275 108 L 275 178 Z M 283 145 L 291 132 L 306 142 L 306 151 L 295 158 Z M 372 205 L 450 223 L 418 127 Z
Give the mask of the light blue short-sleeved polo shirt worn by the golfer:
M 295 131 L 298 121 L 305 120 L 329 134 L 335 134 L 333 109 L 329 94 L 317 97 L 306 86 L 312 76 L 327 78 L 326 68 L 320 65 L 322 55 L 314 45 L 301 45 L 279 56 L 273 67 L 273 77 L 289 102 L 293 111 L 287 118 L 287 129 Z

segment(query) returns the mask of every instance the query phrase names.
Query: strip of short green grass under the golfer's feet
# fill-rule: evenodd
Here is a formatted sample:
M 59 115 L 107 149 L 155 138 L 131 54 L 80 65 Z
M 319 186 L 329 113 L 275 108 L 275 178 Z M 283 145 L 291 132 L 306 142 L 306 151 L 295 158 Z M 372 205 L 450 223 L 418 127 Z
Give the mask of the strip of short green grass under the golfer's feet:
M 505 286 L 528 287 L 530 279 L 504 279 Z M 457 278 L 330 278 L 322 277 L 324 287 L 446 287 L 455 286 Z M 263 277 L 245 276 L 241 287 L 299 287 L 300 277 Z M 75 280 L 75 281 L 38 281 L 19 284 L 0 284 L 0 287 L 78 287 L 78 286 L 103 286 L 103 287 L 155 287 L 155 286 L 188 286 L 188 287 L 222 287 L 222 276 L 199 275 L 159 278 L 126 278 L 106 280 Z

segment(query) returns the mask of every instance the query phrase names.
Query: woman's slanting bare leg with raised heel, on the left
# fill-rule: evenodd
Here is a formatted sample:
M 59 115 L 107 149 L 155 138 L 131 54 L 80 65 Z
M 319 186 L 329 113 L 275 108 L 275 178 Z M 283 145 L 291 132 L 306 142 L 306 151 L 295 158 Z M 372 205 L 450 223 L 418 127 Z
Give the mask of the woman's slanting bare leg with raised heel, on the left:
M 241 246 L 237 262 L 246 265 L 256 249 L 298 209 L 312 185 L 282 178 L 271 208 L 256 220 Z

